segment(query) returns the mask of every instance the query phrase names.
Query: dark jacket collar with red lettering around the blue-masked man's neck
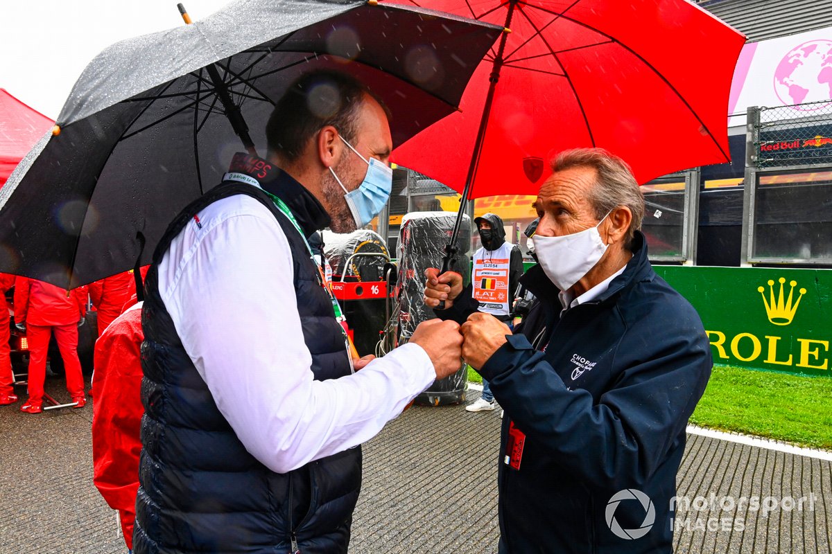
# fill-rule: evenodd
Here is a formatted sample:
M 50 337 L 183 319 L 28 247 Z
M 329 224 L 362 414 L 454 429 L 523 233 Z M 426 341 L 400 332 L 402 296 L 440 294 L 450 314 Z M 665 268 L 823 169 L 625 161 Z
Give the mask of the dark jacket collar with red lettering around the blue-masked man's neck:
M 243 174 L 255 179 L 260 188 L 283 200 L 303 228 L 306 237 L 327 227 L 332 221 L 324 206 L 304 185 L 265 159 L 238 152 L 228 168 L 229 174 Z M 226 174 L 228 178 L 228 174 Z

